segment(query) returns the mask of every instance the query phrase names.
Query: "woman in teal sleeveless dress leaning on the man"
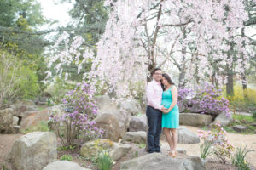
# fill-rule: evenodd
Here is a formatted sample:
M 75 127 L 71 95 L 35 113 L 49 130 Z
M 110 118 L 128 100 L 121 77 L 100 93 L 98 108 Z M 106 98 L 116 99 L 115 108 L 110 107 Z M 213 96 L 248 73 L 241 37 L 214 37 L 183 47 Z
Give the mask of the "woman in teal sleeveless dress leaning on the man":
M 161 82 L 164 85 L 161 105 L 165 105 L 165 108 L 161 110 L 163 112 L 162 128 L 171 149 L 169 156 L 175 157 L 177 156 L 177 128 L 179 126 L 177 88 L 167 74 L 162 75 Z

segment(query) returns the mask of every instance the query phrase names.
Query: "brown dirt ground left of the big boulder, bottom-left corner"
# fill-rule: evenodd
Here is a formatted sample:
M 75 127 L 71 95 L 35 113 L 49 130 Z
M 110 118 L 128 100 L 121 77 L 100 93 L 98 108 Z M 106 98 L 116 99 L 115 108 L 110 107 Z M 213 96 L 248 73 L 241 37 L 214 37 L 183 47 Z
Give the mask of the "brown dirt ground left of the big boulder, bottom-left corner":
M 0 168 L 2 168 L 3 161 L 15 140 L 20 138 L 20 136 L 22 136 L 22 134 L 0 134 Z

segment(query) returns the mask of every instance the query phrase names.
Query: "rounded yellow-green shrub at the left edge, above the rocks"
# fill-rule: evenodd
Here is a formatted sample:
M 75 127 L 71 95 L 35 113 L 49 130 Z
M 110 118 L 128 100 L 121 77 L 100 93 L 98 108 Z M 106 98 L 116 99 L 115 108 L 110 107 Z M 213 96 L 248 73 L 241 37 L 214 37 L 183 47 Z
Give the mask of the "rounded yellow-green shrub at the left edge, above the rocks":
M 0 108 L 38 95 L 38 77 L 15 55 L 0 50 Z

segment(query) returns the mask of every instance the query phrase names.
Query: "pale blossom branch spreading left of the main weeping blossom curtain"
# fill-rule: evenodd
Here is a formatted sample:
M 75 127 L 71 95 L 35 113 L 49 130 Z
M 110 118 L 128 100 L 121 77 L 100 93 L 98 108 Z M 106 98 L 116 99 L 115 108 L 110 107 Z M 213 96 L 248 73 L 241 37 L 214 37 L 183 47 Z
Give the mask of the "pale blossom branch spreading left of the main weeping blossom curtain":
M 92 50 L 84 46 L 84 38 L 80 36 L 70 37 L 67 32 L 63 32 L 55 42 L 55 45 L 49 49 L 49 64 L 48 68 L 55 70 L 55 74 L 65 80 L 68 79 L 70 66 L 77 65 L 78 74 L 83 65 L 89 63 L 93 59 L 94 54 Z M 66 70 L 66 71 L 65 71 Z M 51 71 L 46 71 L 48 78 L 52 77 Z

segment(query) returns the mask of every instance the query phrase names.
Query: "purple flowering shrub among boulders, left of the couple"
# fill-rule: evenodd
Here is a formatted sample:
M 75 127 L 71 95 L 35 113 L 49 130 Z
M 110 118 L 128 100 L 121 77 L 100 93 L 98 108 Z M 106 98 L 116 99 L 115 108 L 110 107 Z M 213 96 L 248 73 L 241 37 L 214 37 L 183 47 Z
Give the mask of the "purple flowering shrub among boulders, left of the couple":
M 86 82 L 78 83 L 62 99 L 64 114 L 53 112 L 49 122 L 56 130 L 62 145 L 74 145 L 75 141 L 84 141 L 102 137 L 103 131 L 92 120 L 96 117 L 96 103 L 93 90 Z

